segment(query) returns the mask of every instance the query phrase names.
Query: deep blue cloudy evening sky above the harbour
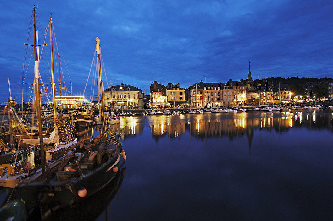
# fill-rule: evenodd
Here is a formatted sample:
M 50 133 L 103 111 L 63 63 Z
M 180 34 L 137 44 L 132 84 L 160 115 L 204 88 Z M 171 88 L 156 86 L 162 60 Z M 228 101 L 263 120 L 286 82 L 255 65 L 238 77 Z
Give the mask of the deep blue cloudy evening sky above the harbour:
M 7 78 L 12 96 L 18 100 L 22 94 L 23 44 L 33 44 L 26 39 L 34 5 L 37 1 L 2 2 L 1 103 L 9 97 Z M 332 11 L 331 1 L 308 0 L 60 0 L 39 1 L 37 15 L 44 31 L 53 13 L 64 78 L 72 81 L 73 94 L 82 94 L 86 86 L 96 36 L 107 81 L 124 80 L 148 94 L 154 80 L 188 87 L 205 76 L 207 82 L 246 79 L 249 61 L 253 79 L 259 74 L 333 77 Z M 26 71 L 32 75 L 33 63 Z

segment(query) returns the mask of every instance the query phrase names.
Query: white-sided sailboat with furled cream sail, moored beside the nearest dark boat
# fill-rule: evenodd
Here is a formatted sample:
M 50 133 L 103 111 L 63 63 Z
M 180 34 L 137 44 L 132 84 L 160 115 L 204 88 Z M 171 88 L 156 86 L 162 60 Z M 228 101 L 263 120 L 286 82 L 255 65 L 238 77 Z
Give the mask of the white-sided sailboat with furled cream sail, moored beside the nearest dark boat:
M 21 144 L 34 145 L 31 148 L 31 152 L 27 154 L 26 161 L 14 162 L 12 165 L 6 164 L 7 173 L 4 174 L 3 168 L 1 168 L 0 174 L 0 185 L 5 187 L 14 188 L 16 185 L 25 181 L 43 181 L 48 177 L 48 174 L 53 174 L 63 164 L 66 164 L 76 147 L 76 141 L 74 142 L 63 142 L 59 143 L 58 133 L 58 121 L 56 121 L 56 107 L 55 107 L 55 83 L 54 83 L 54 70 L 53 70 L 53 49 L 52 49 L 52 18 L 50 18 L 50 33 L 51 33 L 51 72 L 52 72 L 52 87 L 53 87 L 53 101 L 54 101 L 54 130 L 50 137 L 43 139 L 42 135 L 42 121 L 41 121 L 41 108 L 40 108 L 40 96 L 39 96 L 39 59 L 37 59 L 38 46 L 36 40 L 36 8 L 33 8 L 34 17 L 34 51 L 35 51 L 35 62 L 34 62 L 34 87 L 35 87 L 35 98 L 36 98 L 36 115 L 39 138 L 37 139 L 23 139 L 20 141 Z M 39 55 L 38 55 L 39 57 Z M 45 144 L 55 143 L 55 146 L 45 147 Z M 39 148 L 37 148 L 39 145 Z M 18 148 L 19 149 L 19 148 Z M 16 164 L 17 163 L 17 164 Z M 48 170 L 46 171 L 45 165 L 47 164 Z

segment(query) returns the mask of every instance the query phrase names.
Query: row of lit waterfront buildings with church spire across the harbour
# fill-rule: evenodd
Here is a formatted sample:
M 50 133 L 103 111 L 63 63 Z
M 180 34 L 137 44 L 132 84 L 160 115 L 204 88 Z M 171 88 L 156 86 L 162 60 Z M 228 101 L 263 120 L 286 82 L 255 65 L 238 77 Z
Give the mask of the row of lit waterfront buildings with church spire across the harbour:
M 311 88 L 313 84 L 304 86 Z M 331 86 L 333 97 L 333 82 L 329 86 Z M 189 88 L 182 88 L 179 83 L 168 83 L 165 86 L 154 81 L 151 84 L 149 95 L 145 95 L 140 88 L 122 83 L 106 89 L 104 100 L 105 104 L 109 106 L 143 107 L 144 105 L 150 105 L 153 108 L 183 108 L 189 106 L 192 108 L 210 108 L 289 103 L 292 95 L 293 92 L 290 86 L 279 82 L 268 84 L 268 82 L 262 80 L 254 87 L 249 67 L 246 84 L 230 79 L 225 83 L 200 81 L 190 85 Z M 302 96 L 299 98 L 302 98 Z M 75 100 L 73 97 L 71 99 Z M 64 99 L 62 100 L 62 102 L 66 102 Z

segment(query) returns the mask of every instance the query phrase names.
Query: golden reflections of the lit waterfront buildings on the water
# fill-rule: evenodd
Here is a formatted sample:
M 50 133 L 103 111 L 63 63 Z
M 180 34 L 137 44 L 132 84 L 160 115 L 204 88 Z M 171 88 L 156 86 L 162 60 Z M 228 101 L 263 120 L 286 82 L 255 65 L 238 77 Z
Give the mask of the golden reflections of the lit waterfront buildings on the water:
M 122 139 L 141 133 L 147 126 L 150 127 L 152 136 L 157 141 L 162 137 L 180 138 L 186 131 L 191 136 L 201 139 L 226 136 L 232 140 L 246 135 L 251 147 L 255 130 L 283 133 L 292 127 L 305 126 L 312 129 L 332 127 L 331 119 L 331 113 L 316 114 L 312 111 L 136 116 L 123 118 L 120 124 L 110 125 L 110 127 L 113 133 L 124 128 L 121 134 Z M 88 129 L 88 132 L 88 136 L 94 136 L 91 134 L 96 133 L 91 129 Z

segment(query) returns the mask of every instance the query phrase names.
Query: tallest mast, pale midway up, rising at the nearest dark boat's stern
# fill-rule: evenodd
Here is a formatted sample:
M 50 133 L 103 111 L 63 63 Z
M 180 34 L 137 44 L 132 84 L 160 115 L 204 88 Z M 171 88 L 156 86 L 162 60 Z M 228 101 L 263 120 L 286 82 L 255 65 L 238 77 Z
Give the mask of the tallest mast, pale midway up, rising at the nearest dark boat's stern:
M 42 173 L 43 173 L 43 182 L 46 180 L 46 171 L 45 171 L 45 156 L 44 156 L 44 144 L 43 144 L 43 132 L 42 132 L 42 121 L 41 121 L 41 107 L 40 107 L 40 97 L 39 97 L 39 61 L 37 60 L 37 39 L 36 39 L 36 8 L 34 7 L 34 49 L 35 49 L 35 96 L 36 96 L 36 115 L 37 115 L 37 124 L 39 128 L 39 141 L 40 141 L 40 150 L 41 150 L 41 161 L 42 161 Z

